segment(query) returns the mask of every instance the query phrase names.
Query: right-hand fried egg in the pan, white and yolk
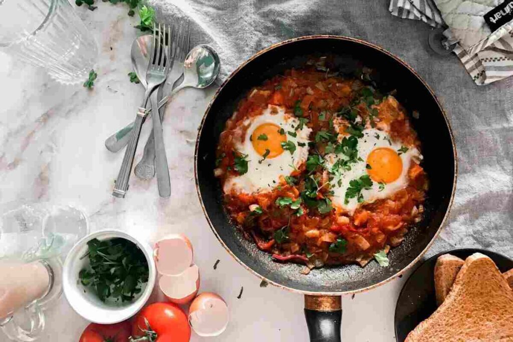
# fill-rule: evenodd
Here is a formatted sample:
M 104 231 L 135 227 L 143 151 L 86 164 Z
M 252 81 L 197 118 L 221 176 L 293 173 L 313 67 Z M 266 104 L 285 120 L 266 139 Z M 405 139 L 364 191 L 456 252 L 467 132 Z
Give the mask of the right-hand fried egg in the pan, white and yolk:
M 408 185 L 408 169 L 411 163 L 419 163 L 422 155 L 415 147 L 402 146 L 393 142 L 384 131 L 373 128 L 363 130 L 363 137 L 358 139 L 358 159 L 350 163 L 350 170 L 339 168 L 333 172 L 333 166 L 339 160 L 347 160 L 343 153 L 330 153 L 325 156 L 325 167 L 334 174 L 330 180 L 330 197 L 334 206 L 353 213 L 359 206 L 372 203 L 377 199 L 387 198 Z M 339 163 L 340 164 L 340 163 Z M 346 196 L 347 191 L 354 193 L 353 179 L 364 180 L 365 187 L 356 196 Z M 368 178 L 372 185 L 369 186 Z M 353 182 L 354 183 L 354 182 Z M 351 189 L 350 189 L 351 188 Z

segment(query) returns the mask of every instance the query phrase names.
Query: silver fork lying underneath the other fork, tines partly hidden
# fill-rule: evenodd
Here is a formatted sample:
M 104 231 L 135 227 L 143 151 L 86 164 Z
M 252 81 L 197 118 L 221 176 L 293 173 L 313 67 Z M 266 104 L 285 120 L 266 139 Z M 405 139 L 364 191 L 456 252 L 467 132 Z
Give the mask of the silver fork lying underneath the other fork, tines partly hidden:
M 189 53 L 189 23 L 182 25 L 179 29 L 177 29 L 176 39 L 173 39 L 173 41 L 176 42 L 173 55 L 176 55 L 176 51 L 180 50 L 179 61 L 183 63 L 185 61 L 185 56 L 187 56 L 187 53 Z M 171 72 L 171 74 L 172 73 L 173 72 Z M 181 78 L 183 78 L 182 75 L 183 73 L 180 74 L 176 79 L 171 79 L 171 82 L 176 83 Z M 160 111 L 160 119 L 161 122 L 164 119 L 164 110 Z M 155 175 L 155 148 L 153 143 L 153 132 L 150 133 L 148 140 L 146 140 L 143 157 L 141 158 L 140 162 L 135 165 L 134 173 L 137 177 L 146 180 L 153 178 Z

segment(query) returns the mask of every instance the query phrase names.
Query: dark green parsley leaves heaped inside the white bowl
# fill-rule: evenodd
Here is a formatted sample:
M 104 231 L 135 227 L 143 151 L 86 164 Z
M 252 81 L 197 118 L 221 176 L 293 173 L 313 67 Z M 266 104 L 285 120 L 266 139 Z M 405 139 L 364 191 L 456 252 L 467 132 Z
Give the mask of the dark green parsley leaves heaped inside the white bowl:
M 139 247 L 124 238 L 94 238 L 87 246 L 84 257 L 89 257 L 89 266 L 78 273 L 82 285 L 91 287 L 103 302 L 110 297 L 133 300 L 148 281 L 148 263 Z

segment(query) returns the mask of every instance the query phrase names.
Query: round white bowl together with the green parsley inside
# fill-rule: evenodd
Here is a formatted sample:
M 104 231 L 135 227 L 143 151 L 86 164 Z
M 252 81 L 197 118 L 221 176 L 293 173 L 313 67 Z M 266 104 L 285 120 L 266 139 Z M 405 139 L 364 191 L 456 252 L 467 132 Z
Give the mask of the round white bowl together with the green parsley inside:
M 79 315 L 98 324 L 128 319 L 155 285 L 153 249 L 145 238 L 99 231 L 73 246 L 64 262 L 63 289 Z

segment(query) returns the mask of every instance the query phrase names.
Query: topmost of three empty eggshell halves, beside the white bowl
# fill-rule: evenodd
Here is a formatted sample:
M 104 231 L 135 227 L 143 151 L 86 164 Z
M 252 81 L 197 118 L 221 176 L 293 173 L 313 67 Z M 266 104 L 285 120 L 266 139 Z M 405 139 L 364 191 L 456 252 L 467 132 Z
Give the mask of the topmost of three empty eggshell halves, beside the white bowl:
M 192 265 L 192 244 L 182 234 L 169 235 L 159 240 L 153 250 L 153 258 L 159 274 L 178 275 Z

